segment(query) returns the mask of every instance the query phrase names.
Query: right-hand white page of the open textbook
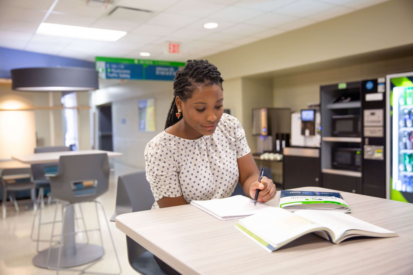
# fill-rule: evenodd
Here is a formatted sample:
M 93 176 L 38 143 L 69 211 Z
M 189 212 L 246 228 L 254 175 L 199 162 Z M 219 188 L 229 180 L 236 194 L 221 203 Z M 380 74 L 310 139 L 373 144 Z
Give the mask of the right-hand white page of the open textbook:
M 375 233 L 394 233 L 393 231 L 381 228 L 377 225 L 367 223 L 358 218 L 354 218 L 341 212 L 321 212 L 317 210 L 299 210 L 295 212 L 303 218 L 312 220 L 315 223 L 330 228 L 335 235 L 336 240 L 339 239 L 347 230 L 362 230 Z

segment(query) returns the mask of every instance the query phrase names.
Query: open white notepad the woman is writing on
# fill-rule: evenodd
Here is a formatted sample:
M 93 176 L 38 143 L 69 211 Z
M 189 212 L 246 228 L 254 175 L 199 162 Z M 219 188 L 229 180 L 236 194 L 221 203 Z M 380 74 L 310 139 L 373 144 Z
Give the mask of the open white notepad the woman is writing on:
M 211 199 L 209 201 L 192 201 L 191 204 L 220 220 L 244 218 L 263 209 L 274 207 L 262 202 L 257 202 L 254 206 L 253 199 L 242 195 L 225 199 Z

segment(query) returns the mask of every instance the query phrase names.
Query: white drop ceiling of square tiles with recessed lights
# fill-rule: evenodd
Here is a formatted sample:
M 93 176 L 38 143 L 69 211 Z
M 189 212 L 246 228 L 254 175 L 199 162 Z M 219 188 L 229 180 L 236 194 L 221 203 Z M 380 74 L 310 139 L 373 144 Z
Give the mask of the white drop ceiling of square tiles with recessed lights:
M 200 58 L 387 0 L 0 0 L 0 47 L 94 61 L 95 56 Z M 36 34 L 40 23 L 126 31 L 115 42 Z M 218 28 L 203 24 L 216 22 Z M 166 41 L 181 43 L 164 55 Z M 150 52 L 140 57 L 139 52 Z

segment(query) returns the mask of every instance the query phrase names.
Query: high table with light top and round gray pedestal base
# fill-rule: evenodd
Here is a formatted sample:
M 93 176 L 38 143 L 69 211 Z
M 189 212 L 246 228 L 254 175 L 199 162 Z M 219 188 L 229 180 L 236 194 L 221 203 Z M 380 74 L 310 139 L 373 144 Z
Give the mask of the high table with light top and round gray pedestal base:
M 123 156 L 122 153 L 109 152 L 102 150 L 82 150 L 82 151 L 65 151 L 65 152 L 50 152 L 50 153 L 36 153 L 21 156 L 12 156 L 13 159 L 21 161 L 24 164 L 39 164 L 59 162 L 60 156 L 73 156 L 83 154 L 100 154 L 107 153 L 108 158 L 116 158 Z M 67 203 L 62 202 L 62 207 Z M 66 215 L 64 219 L 63 234 L 74 232 L 74 208 L 73 205 L 66 207 Z M 42 268 L 57 267 L 57 255 L 59 247 L 51 249 L 49 263 L 47 264 L 47 254 L 49 249 L 40 251 L 33 258 L 33 264 Z M 60 267 L 67 268 L 72 266 L 80 266 L 85 263 L 96 260 L 103 256 L 102 247 L 95 244 L 76 244 L 75 235 L 64 235 L 62 257 L 60 259 Z

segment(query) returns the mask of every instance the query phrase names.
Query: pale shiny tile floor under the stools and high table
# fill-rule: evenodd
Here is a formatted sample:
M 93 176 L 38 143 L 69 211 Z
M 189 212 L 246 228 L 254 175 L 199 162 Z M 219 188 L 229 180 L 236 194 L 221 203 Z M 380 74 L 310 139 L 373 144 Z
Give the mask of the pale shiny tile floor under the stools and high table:
M 104 206 L 104 210 L 109 220 L 114 213 L 116 200 L 116 183 L 118 175 L 139 169 L 133 166 L 126 166 L 119 162 L 114 162 L 114 171 L 111 172 L 109 183 L 109 191 L 98 198 Z M 116 180 L 115 180 L 116 179 Z M 36 256 L 36 242 L 30 240 L 31 225 L 33 222 L 33 208 L 25 210 L 24 204 L 28 201 L 19 201 L 20 212 L 16 212 L 12 204 L 7 204 L 7 218 L 0 219 L 0 274 L 1 275 L 49 275 L 56 274 L 54 270 L 38 268 L 33 266 L 32 258 Z M 43 209 L 44 220 L 52 220 L 56 204 L 50 206 L 45 205 Z M 76 207 L 78 210 L 78 207 Z M 93 203 L 82 204 L 83 214 L 85 216 L 86 227 L 96 228 L 97 218 L 95 206 Z M 61 213 L 60 209 L 57 212 L 58 216 Z M 119 273 L 119 268 L 116 262 L 116 257 L 109 238 L 108 228 L 103 221 L 102 210 L 99 210 L 105 255 L 102 260 L 96 263 L 89 271 L 104 272 L 104 273 Z M 57 218 L 59 219 L 59 217 Z M 80 220 L 79 220 L 80 222 Z M 81 226 L 82 228 L 82 226 Z M 121 274 L 138 274 L 129 266 L 126 252 L 126 238 L 120 230 L 115 227 L 114 222 L 109 222 L 110 232 L 114 238 L 116 251 L 121 262 Z M 37 228 L 36 228 L 37 229 Z M 57 225 L 55 234 L 59 232 L 60 227 Z M 37 231 L 36 231 L 37 232 Z M 41 229 L 40 238 L 50 238 L 51 225 L 44 225 Z M 89 234 L 90 243 L 100 244 L 100 239 L 96 232 Z M 79 234 L 77 240 L 85 240 L 85 235 Z M 48 243 L 40 243 L 40 250 L 47 248 Z M 62 271 L 63 275 L 74 275 L 78 272 Z

